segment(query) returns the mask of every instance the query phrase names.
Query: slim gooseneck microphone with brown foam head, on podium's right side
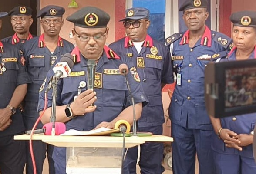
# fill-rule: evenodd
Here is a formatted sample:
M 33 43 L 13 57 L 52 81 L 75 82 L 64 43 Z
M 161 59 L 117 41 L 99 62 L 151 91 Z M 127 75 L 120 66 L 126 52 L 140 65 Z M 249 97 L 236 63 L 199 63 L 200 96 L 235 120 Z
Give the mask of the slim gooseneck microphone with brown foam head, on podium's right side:
M 137 127 L 136 127 L 136 112 L 135 112 L 135 103 L 134 103 L 134 98 L 133 95 L 131 93 L 131 88 L 130 85 L 128 83 L 128 78 L 127 78 L 127 74 L 128 74 L 128 66 L 125 63 L 122 63 L 121 65 L 119 65 L 119 71 L 121 73 L 121 75 L 125 76 L 125 81 L 126 81 L 126 85 L 128 88 L 128 91 L 131 95 L 131 103 L 132 103 L 132 110 L 133 110 L 133 125 L 132 125 L 132 135 L 133 136 L 137 136 Z

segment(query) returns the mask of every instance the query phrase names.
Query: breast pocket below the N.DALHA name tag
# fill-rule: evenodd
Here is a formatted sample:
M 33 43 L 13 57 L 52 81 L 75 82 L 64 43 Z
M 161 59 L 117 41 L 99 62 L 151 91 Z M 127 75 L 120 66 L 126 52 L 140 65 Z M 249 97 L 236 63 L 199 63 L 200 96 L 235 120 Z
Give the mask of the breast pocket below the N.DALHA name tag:
M 45 69 L 44 58 L 32 58 L 28 61 L 28 71 L 31 79 L 44 80 L 49 69 Z

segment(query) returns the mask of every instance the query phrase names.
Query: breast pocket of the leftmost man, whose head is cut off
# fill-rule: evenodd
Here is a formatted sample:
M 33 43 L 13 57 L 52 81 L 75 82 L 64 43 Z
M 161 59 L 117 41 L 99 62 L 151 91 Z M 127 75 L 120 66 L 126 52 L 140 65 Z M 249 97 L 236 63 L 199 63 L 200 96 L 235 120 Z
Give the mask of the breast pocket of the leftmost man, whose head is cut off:
M 17 82 L 19 66 L 17 62 L 5 62 L 4 67 L 6 71 L 3 72 L 4 82 Z

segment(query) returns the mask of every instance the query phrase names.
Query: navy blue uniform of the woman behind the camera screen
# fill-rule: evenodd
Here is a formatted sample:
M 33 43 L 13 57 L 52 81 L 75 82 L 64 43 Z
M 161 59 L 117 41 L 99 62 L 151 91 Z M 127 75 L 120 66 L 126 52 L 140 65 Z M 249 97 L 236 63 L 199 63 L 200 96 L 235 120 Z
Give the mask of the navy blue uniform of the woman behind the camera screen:
M 256 59 L 256 49 L 248 59 Z M 221 61 L 222 60 L 235 61 L 236 48 L 234 47 L 231 50 L 228 59 L 221 59 Z M 246 90 L 245 92 L 248 91 Z M 250 134 L 255 127 L 255 121 L 256 113 L 250 113 L 221 118 L 221 125 L 222 128 L 229 129 L 237 134 Z M 239 151 L 235 148 L 226 147 L 224 141 L 219 139 L 216 135 L 213 136 L 212 140 L 214 162 L 217 169 L 216 174 L 254 174 L 256 172 L 252 144 L 244 146 L 243 151 Z

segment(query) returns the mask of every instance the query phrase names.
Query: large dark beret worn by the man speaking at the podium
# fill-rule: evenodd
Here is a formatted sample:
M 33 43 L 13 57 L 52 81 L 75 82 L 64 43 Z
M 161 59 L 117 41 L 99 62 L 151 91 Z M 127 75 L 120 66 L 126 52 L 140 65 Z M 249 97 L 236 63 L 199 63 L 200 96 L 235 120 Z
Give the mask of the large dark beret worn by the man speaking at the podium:
M 83 28 L 104 28 L 108 25 L 110 16 L 97 7 L 83 7 L 68 16 L 67 20 Z

